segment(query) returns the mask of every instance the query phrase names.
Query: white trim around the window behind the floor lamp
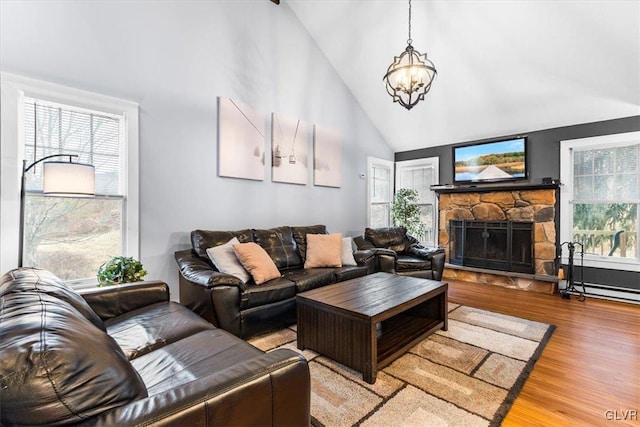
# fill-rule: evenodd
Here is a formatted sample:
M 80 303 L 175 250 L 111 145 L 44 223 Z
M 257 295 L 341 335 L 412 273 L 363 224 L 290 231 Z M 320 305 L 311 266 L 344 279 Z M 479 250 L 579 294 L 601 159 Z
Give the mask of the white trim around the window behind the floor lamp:
M 69 88 L 54 83 L 0 73 L 0 270 L 18 265 L 18 235 L 20 228 L 20 180 L 24 158 L 23 98 L 25 96 L 88 110 L 124 115 L 127 128 L 125 147 L 126 217 L 124 218 L 124 253 L 140 257 L 139 238 L 139 136 L 138 104 L 135 102 Z

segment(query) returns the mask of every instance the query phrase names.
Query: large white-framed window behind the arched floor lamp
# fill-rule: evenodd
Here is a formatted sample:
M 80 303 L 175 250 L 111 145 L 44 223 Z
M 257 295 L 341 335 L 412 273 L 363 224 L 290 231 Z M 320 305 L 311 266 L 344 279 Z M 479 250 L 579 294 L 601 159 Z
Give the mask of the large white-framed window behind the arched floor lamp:
M 22 160 L 29 165 L 51 154 L 75 154 L 96 171 L 96 196 L 51 197 L 42 194 L 42 163 L 26 175 L 23 265 L 41 267 L 77 284 L 95 284 L 98 267 L 115 255 L 138 257 L 138 135 L 136 104 L 89 92 L 3 74 L 3 163 L 13 154 L 16 166 L 3 168 L 0 210 L 19 225 L 19 204 L 9 195 L 19 188 Z M 5 114 L 5 106 L 15 110 Z M 5 140 L 17 141 L 15 147 Z M 4 148 L 8 147 L 5 158 Z M 7 195 L 7 197 L 5 197 Z M 18 235 L 2 224 L 4 255 L 17 253 Z M 17 229 L 16 229 L 17 230 Z M 15 241 L 15 243 L 12 242 Z M 17 258 L 17 256 L 16 256 Z

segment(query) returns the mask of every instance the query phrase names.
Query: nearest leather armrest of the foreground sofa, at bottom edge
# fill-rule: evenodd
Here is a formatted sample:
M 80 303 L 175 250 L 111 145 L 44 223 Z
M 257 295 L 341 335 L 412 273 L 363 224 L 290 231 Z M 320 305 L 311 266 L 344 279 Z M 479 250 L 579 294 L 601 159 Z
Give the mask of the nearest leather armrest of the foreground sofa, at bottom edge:
M 278 349 L 115 408 L 87 423 L 308 426 L 310 395 L 307 361 L 293 350 Z

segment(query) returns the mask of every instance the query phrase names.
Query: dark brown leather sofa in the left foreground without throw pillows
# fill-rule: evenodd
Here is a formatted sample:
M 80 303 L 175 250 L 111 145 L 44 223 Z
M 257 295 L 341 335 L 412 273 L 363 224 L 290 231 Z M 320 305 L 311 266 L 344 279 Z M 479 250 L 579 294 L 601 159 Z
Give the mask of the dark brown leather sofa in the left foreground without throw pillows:
M 309 367 L 169 301 L 163 282 L 81 294 L 0 278 L 0 425 L 306 425 Z

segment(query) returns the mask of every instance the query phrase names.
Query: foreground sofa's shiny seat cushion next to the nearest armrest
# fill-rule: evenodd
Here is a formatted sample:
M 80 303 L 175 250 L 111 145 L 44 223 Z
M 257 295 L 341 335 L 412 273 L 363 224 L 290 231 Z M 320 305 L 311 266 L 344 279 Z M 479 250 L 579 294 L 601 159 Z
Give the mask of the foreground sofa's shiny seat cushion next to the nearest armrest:
M 162 351 L 141 356 L 132 364 L 153 396 L 262 354 L 230 333 L 214 328 L 169 344 Z

